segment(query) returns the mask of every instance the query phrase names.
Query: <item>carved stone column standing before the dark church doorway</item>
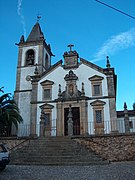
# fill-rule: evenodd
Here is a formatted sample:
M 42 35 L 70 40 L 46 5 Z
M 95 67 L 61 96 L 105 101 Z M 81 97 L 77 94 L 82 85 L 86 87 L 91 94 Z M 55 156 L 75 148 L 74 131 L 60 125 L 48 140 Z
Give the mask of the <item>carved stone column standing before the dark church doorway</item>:
M 73 136 L 73 115 L 71 104 L 69 105 L 69 113 L 68 113 L 68 136 Z

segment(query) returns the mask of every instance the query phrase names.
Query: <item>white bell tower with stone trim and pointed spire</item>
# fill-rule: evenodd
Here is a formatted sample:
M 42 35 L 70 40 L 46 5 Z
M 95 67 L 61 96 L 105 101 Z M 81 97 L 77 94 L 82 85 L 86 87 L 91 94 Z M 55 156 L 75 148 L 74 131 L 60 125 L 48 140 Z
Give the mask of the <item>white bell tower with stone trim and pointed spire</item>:
M 16 74 L 16 89 L 14 98 L 24 123 L 30 123 L 30 103 L 32 85 L 30 77 L 34 75 L 35 69 L 39 75 L 51 67 L 51 47 L 46 43 L 39 22 L 33 26 L 28 38 L 22 35 L 18 44 L 18 65 Z

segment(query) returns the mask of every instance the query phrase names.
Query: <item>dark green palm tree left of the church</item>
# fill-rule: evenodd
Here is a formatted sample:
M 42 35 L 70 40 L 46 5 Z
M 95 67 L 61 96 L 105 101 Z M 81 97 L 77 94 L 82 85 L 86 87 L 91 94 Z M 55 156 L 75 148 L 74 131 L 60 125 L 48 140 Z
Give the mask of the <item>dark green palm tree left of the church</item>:
M 4 93 L 2 88 L 0 88 L 0 91 Z M 0 96 L 0 129 L 10 135 L 12 124 L 18 129 L 18 124 L 21 122 L 23 122 L 23 119 L 13 96 L 10 93 Z

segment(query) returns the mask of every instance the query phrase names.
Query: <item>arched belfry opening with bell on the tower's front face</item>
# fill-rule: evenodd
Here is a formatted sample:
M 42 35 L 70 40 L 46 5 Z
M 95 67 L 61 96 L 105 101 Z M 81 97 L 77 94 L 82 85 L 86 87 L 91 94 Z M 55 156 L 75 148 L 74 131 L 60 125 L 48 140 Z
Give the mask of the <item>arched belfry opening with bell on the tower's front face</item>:
M 35 53 L 33 49 L 30 49 L 26 52 L 26 66 L 34 65 Z

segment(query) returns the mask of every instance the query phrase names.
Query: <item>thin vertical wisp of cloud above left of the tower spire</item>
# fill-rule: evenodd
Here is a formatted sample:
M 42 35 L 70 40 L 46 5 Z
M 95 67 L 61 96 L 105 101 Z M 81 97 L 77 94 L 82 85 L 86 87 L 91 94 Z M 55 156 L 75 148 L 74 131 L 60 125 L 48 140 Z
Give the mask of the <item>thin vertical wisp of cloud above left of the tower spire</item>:
M 22 0 L 18 0 L 17 13 L 21 18 L 21 24 L 23 26 L 23 33 L 24 33 L 24 36 L 26 37 L 25 18 L 24 18 L 23 12 L 22 12 Z

